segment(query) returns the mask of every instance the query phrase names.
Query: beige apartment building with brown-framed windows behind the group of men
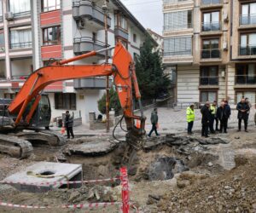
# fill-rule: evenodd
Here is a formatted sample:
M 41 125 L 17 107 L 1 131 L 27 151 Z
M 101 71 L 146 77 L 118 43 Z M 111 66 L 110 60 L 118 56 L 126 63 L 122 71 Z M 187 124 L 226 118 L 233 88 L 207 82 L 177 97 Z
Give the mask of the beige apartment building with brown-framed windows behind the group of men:
M 177 102 L 255 103 L 256 1 L 164 0 L 164 57 Z

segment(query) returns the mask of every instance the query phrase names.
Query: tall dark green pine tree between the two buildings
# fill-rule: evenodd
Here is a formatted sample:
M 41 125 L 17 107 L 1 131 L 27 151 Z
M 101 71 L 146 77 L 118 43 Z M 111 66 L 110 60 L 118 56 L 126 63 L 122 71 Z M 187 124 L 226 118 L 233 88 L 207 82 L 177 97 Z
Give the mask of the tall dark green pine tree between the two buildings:
M 171 80 L 164 73 L 159 51 L 153 51 L 154 45 L 149 37 L 135 59 L 136 73 L 143 100 L 157 99 L 168 93 Z

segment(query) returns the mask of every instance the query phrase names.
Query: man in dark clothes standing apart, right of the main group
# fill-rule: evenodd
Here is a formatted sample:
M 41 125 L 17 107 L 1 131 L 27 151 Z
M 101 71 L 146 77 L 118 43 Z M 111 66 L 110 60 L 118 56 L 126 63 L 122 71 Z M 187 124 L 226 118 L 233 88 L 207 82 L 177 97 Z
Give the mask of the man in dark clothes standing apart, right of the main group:
M 247 121 L 248 115 L 247 112 L 250 110 L 250 107 L 247 105 L 247 102 L 244 98 L 237 104 L 236 110 L 238 111 L 238 131 L 241 131 L 241 120 L 244 122 L 244 130 L 247 132 Z

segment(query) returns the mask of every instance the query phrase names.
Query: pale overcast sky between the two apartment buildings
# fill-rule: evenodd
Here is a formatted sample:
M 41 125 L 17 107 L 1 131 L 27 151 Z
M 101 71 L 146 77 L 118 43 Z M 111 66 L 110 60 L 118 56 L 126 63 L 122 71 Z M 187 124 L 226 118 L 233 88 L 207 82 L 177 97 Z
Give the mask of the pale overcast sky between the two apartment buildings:
M 162 34 L 162 0 L 121 0 L 145 28 Z

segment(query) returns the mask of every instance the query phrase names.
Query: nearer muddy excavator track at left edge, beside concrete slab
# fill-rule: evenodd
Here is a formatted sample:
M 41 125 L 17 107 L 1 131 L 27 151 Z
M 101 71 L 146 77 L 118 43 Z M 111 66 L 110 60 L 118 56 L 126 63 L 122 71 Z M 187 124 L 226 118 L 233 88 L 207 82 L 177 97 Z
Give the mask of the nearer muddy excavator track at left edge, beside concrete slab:
M 33 153 L 33 147 L 29 141 L 0 134 L 0 153 L 8 154 L 13 158 L 29 158 Z

